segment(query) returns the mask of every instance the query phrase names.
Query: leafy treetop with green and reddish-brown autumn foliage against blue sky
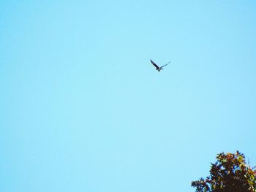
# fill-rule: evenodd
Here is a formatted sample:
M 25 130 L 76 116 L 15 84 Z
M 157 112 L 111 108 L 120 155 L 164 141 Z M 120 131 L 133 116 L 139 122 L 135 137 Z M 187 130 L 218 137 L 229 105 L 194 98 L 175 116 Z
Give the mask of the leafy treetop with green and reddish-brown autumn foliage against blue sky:
M 210 176 L 193 181 L 197 192 L 256 192 L 256 170 L 246 164 L 243 153 L 219 153 Z

